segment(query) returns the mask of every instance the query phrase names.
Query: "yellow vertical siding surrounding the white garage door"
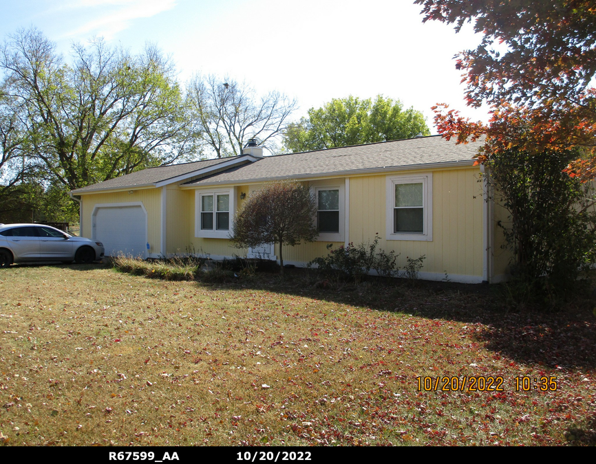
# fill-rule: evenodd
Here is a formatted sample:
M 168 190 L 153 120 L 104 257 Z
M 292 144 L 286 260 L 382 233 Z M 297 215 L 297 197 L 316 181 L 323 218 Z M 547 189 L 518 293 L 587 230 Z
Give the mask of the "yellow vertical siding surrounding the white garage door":
M 95 193 L 89 195 L 82 195 L 83 202 L 83 236 L 91 239 L 92 223 L 91 215 L 94 207 L 101 203 L 142 203 L 147 210 L 147 237 L 151 253 L 159 253 L 160 239 L 161 239 L 161 190 L 160 189 L 146 189 L 146 190 L 131 190 L 132 193 L 126 192 L 111 192 L 111 193 Z

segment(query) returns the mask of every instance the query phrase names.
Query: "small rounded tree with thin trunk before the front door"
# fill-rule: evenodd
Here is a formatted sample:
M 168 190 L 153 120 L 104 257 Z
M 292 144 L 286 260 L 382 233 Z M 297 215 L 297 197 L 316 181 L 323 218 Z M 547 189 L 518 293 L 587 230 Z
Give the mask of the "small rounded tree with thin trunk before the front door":
M 232 240 L 239 247 L 279 244 L 279 274 L 284 275 L 284 245 L 312 242 L 317 203 L 308 186 L 297 181 L 274 181 L 254 192 L 234 218 Z

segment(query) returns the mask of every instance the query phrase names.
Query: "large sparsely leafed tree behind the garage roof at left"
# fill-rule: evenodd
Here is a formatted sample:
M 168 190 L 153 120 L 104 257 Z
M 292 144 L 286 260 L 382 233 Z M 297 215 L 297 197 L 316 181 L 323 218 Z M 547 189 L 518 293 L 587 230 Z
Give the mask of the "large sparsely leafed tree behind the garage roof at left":
M 39 30 L 20 30 L 0 49 L 0 69 L 21 153 L 67 190 L 189 151 L 182 93 L 155 47 L 134 56 L 96 39 L 73 45 L 69 65 Z

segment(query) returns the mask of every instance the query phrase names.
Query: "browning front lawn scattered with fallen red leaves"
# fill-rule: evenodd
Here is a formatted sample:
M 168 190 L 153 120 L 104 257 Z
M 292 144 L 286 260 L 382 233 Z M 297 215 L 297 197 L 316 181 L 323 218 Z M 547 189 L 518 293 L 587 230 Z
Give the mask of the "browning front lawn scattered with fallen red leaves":
M 105 265 L 1 269 L 0 441 L 596 443 L 589 302 L 515 313 L 494 287 L 325 289 L 288 274 L 205 285 Z M 442 391 L 444 377 L 460 389 Z M 502 391 L 469 391 L 470 377 Z M 551 390 L 534 389 L 542 377 Z

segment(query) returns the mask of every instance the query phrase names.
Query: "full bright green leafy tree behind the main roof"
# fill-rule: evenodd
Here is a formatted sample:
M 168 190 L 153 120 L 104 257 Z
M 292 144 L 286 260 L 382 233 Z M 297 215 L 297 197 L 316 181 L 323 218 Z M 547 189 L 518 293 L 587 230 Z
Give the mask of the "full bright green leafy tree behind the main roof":
M 291 152 L 322 150 L 430 135 L 425 118 L 413 108 L 403 109 L 399 100 L 376 96 L 361 100 L 353 96 L 334 98 L 308 118 L 290 124 L 284 146 Z

